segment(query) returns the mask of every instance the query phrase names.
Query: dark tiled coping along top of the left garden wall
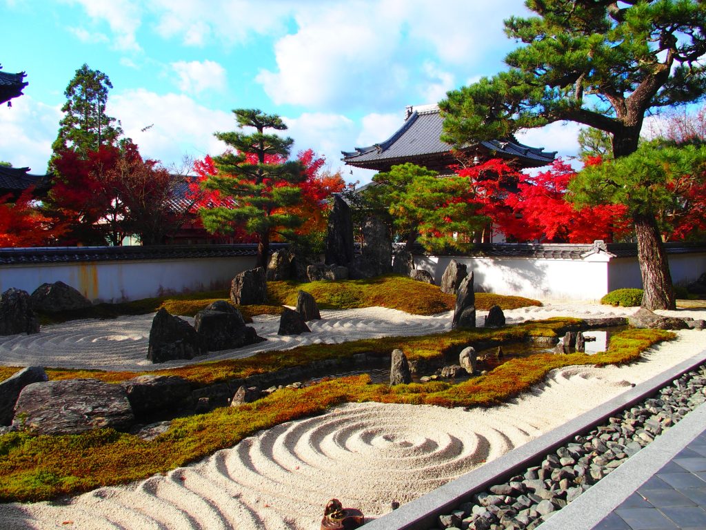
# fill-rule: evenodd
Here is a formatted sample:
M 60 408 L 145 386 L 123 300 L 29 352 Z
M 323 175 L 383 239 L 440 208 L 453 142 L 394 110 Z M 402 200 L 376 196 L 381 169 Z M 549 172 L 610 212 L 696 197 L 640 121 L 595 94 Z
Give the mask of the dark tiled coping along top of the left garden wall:
M 270 249 L 287 247 L 271 243 Z M 130 261 L 134 259 L 186 259 L 256 256 L 258 245 L 155 245 L 150 247 L 38 247 L 0 248 L 1 265 L 75 263 L 80 261 Z

